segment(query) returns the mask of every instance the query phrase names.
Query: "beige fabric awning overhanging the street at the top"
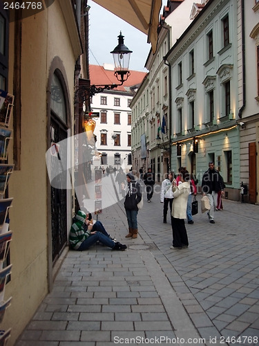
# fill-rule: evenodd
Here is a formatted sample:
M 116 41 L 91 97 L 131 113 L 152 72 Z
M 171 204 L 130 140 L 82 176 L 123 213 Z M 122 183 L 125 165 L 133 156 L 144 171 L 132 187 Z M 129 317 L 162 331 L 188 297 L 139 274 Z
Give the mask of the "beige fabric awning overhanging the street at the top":
M 162 0 L 93 0 L 148 36 L 155 53 Z

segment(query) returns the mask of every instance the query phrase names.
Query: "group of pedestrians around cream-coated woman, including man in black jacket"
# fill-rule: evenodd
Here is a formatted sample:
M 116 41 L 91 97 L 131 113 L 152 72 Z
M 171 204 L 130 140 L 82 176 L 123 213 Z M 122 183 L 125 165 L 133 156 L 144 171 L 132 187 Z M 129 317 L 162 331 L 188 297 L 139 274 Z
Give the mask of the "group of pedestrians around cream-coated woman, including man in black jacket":
M 164 203 L 163 222 L 166 224 L 167 211 L 170 206 L 171 225 L 173 230 L 173 245 L 171 249 L 181 249 L 189 246 L 188 235 L 185 227 L 187 217 L 188 224 L 193 224 L 191 210 L 192 196 L 196 196 L 198 181 L 193 174 L 184 168 L 179 168 L 179 174 L 173 179 L 170 172 L 162 181 L 160 189 L 160 202 Z M 202 176 L 202 193 L 209 198 L 210 209 L 208 211 L 209 222 L 215 224 L 215 210 L 222 210 L 222 194 L 224 193 L 224 181 L 220 172 L 215 170 L 215 165 L 209 162 L 209 169 Z

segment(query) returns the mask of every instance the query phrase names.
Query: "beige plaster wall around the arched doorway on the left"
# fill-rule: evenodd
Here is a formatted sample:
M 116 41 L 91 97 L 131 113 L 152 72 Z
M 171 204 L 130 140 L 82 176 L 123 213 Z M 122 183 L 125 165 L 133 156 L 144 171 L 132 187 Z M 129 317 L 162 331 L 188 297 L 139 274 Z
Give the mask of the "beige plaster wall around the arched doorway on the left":
M 10 87 L 12 93 L 14 27 L 10 25 Z M 69 97 L 73 100 L 75 55 L 59 1 L 21 24 L 21 167 L 12 173 L 9 197 L 12 275 L 5 297 L 12 296 L 1 329 L 12 328 L 8 345 L 14 345 L 41 300 L 48 293 L 51 248 L 48 229 L 48 104 L 46 90 L 52 59 L 64 64 Z M 15 83 L 15 80 L 14 80 Z M 70 113 L 73 113 L 70 102 Z M 15 119 L 13 120 L 15 122 Z M 11 146 L 10 146 L 11 147 Z M 10 148 L 12 157 L 12 147 Z M 10 160 L 11 163 L 11 160 Z M 50 242 L 51 244 L 51 242 Z M 51 279 L 52 280 L 52 279 Z M 22 316 L 22 318 L 21 318 Z

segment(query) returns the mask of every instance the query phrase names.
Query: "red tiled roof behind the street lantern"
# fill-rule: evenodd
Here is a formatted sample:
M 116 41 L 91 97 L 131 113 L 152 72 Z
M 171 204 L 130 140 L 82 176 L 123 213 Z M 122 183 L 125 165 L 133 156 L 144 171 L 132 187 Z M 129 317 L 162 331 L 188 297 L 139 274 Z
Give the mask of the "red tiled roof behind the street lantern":
M 90 72 L 90 84 L 95 85 L 104 85 L 104 84 L 119 84 L 119 81 L 114 75 L 114 71 L 105 70 L 104 66 L 99 65 L 89 65 Z M 128 80 L 124 82 L 122 86 L 118 86 L 114 90 L 126 91 L 124 86 L 134 86 L 140 84 L 144 77 L 146 76 L 146 72 L 140 71 L 131 71 L 131 75 L 128 77 Z

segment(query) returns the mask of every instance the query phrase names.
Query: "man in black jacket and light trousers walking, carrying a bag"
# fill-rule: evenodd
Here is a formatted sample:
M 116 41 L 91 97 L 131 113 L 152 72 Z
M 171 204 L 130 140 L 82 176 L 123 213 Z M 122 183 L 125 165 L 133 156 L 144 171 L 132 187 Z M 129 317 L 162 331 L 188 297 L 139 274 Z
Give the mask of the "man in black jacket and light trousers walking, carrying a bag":
M 207 170 L 202 177 L 202 192 L 203 195 L 207 194 L 211 209 L 208 212 L 209 222 L 215 224 L 214 214 L 215 208 L 218 203 L 218 192 L 224 193 L 224 185 L 222 184 L 222 176 L 218 170 L 215 170 L 213 161 L 209 162 L 209 170 Z

